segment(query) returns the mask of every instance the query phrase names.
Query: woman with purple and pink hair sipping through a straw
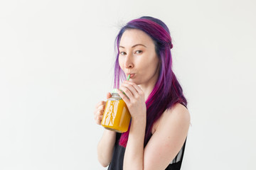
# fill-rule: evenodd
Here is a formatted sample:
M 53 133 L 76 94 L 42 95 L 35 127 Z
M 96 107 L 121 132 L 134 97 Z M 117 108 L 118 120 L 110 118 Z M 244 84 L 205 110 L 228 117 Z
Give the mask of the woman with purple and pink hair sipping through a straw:
M 190 114 L 171 69 L 169 29 L 159 19 L 144 16 L 127 23 L 116 42 L 114 88 L 127 95 L 118 91 L 132 120 L 123 134 L 105 130 L 97 146 L 99 162 L 109 169 L 181 169 Z M 105 101 L 95 108 L 99 125 L 104 108 Z

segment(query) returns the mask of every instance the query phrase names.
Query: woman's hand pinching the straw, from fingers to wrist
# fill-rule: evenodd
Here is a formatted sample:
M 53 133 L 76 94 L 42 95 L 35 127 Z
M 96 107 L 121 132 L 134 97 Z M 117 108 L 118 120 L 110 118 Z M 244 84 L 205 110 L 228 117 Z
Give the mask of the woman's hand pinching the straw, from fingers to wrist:
M 119 89 L 126 94 L 125 96 L 122 91 L 118 90 L 118 94 L 127 104 L 132 118 L 146 118 L 146 103 L 142 89 L 131 81 L 124 81 Z

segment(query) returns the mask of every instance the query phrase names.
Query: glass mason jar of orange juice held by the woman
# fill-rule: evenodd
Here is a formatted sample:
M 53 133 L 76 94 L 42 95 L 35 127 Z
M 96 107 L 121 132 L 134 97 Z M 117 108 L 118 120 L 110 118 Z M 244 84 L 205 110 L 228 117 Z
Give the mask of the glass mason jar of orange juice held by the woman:
M 102 126 L 115 132 L 127 132 L 130 120 L 131 115 L 126 103 L 117 94 L 117 89 L 113 89 L 111 98 L 107 99 L 101 122 Z

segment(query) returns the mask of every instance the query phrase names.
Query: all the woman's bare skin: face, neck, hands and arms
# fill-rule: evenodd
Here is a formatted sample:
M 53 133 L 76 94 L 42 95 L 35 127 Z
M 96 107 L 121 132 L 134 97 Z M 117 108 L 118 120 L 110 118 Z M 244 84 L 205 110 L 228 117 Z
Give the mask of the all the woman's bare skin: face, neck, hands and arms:
M 124 153 L 124 169 L 165 169 L 183 146 L 190 124 L 188 110 L 177 103 L 164 111 L 152 130 L 153 135 L 144 148 L 146 128 L 146 98 L 148 98 L 159 75 L 159 59 L 154 42 L 142 30 L 125 30 L 119 45 L 119 66 L 125 74 L 132 74 L 129 81 L 124 81 L 118 91 L 127 104 L 132 116 L 132 123 Z M 95 121 L 100 123 L 101 102 L 95 108 Z M 110 163 L 114 147 L 114 133 L 102 136 L 98 145 L 98 157 L 103 166 Z M 110 147 L 103 147 L 104 145 Z M 100 156 L 99 156 L 100 155 Z M 103 156 L 104 155 L 104 156 Z

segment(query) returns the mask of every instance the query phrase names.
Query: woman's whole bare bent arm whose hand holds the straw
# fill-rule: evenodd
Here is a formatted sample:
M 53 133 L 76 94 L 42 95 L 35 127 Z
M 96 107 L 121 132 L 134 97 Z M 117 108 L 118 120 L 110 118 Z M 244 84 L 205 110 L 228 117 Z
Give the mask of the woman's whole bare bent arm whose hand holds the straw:
M 144 148 L 146 112 L 142 104 L 139 86 L 125 82 L 121 88 L 128 98 L 119 92 L 132 115 L 127 148 L 124 153 L 124 170 L 162 170 L 176 157 L 183 146 L 190 125 L 188 110 L 176 104 L 161 115 L 156 131 Z M 134 90 L 135 89 L 135 90 Z

